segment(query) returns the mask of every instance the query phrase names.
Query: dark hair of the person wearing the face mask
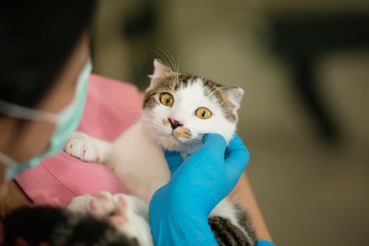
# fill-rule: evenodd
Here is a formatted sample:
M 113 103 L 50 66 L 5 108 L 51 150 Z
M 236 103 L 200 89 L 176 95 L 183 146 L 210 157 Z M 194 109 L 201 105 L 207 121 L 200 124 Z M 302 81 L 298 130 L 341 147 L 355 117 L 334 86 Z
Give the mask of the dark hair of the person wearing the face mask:
M 0 3 L 0 100 L 34 107 L 93 17 L 93 0 Z

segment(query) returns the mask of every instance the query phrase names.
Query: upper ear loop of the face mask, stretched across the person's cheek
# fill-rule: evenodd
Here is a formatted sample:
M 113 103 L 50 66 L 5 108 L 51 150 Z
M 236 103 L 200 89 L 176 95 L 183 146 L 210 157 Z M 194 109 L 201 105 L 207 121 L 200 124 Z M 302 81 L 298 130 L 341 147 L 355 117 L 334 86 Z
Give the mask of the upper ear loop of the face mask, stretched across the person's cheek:
M 56 123 L 58 122 L 59 118 L 59 115 L 53 112 L 34 110 L 32 108 L 26 108 L 13 103 L 8 103 L 3 100 L 0 100 L 0 112 L 4 115 L 18 119 L 28 119 L 48 123 Z

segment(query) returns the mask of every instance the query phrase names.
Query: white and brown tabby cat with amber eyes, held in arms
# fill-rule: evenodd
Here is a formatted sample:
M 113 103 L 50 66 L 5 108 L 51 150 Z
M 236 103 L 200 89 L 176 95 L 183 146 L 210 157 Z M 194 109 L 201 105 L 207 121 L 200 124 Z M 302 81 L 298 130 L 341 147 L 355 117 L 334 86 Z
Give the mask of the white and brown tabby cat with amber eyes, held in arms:
M 153 245 L 148 203 L 153 193 L 170 179 L 162 148 L 178 151 L 186 158 L 202 145 L 205 134 L 221 134 L 229 143 L 243 96 L 239 87 L 221 86 L 209 79 L 174 71 L 160 60 L 154 60 L 154 72 L 149 77 L 141 119 L 113 143 L 75 132 L 65 144 L 66 153 L 110 167 L 132 195 L 106 191 L 95 197 L 83 195 L 72 200 L 63 214 L 67 214 L 69 221 L 86 218 L 94 223 L 108 221 L 105 226 L 115 228 L 117 233 L 112 238 L 124 235 L 127 243 L 132 243 L 127 245 Z M 213 209 L 209 224 L 219 245 L 255 245 L 247 212 L 229 198 Z M 58 230 L 53 233 L 60 234 Z

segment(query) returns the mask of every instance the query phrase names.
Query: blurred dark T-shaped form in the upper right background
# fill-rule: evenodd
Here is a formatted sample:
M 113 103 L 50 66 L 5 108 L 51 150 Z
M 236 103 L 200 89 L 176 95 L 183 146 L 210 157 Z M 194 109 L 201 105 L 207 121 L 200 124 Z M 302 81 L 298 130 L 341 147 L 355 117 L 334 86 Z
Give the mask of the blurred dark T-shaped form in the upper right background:
M 320 136 L 329 143 L 337 143 L 342 134 L 319 90 L 315 65 L 326 52 L 369 48 L 368 24 L 369 15 L 349 13 L 271 18 L 273 49 L 292 65 L 294 88 L 318 124 Z

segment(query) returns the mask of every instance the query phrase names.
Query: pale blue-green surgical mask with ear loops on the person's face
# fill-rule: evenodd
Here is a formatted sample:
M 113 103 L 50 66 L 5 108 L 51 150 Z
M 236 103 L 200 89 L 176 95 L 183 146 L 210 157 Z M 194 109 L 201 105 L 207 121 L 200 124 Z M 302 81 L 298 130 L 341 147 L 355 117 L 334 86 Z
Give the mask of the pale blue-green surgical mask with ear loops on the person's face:
M 78 127 L 79 120 L 82 117 L 84 103 L 86 101 L 87 86 L 91 74 L 91 61 L 89 60 L 79 74 L 76 84 L 75 97 L 70 105 L 67 105 L 59 114 L 44 112 L 25 108 L 20 105 L 0 101 L 0 112 L 4 115 L 19 119 L 28 119 L 41 122 L 50 122 L 56 124 L 53 135 L 48 143 L 48 148 L 39 155 L 32 157 L 27 162 L 17 162 L 11 157 L 0 153 L 0 162 L 7 167 L 4 172 L 4 179 L 10 180 L 20 174 L 25 169 L 36 167 L 45 157 L 56 155 L 63 150 L 68 136 Z

